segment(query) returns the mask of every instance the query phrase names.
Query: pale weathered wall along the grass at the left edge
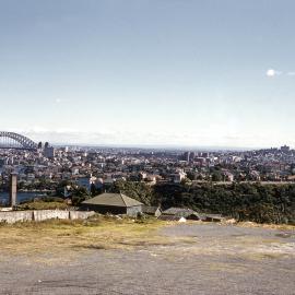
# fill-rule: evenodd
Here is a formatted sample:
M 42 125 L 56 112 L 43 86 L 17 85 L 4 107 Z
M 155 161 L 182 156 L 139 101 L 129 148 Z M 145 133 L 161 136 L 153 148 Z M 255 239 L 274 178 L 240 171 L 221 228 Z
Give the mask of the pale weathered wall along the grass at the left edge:
M 64 211 L 64 210 L 32 210 L 32 211 L 10 211 L 0 212 L 0 222 L 15 223 L 28 221 L 46 221 L 46 220 L 85 220 L 95 212 L 88 211 Z

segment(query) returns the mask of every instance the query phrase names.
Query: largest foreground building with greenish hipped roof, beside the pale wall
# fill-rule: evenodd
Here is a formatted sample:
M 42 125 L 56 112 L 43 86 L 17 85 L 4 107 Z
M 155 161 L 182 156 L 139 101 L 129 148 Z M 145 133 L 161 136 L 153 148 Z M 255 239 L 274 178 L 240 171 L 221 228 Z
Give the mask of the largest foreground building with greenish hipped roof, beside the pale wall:
M 82 202 L 81 209 L 102 214 L 111 213 L 137 216 L 139 213 L 142 213 L 142 205 L 141 202 L 123 193 L 105 192 Z

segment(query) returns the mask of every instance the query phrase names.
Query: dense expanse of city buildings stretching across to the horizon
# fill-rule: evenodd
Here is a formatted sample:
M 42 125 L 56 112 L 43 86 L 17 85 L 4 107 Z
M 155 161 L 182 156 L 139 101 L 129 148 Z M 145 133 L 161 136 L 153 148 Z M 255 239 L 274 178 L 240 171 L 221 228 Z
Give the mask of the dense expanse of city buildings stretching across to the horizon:
M 23 190 L 50 190 L 70 180 L 91 189 L 114 181 L 295 181 L 295 151 L 173 151 L 107 148 L 51 148 L 36 152 L 0 150 L 0 186 L 17 173 Z

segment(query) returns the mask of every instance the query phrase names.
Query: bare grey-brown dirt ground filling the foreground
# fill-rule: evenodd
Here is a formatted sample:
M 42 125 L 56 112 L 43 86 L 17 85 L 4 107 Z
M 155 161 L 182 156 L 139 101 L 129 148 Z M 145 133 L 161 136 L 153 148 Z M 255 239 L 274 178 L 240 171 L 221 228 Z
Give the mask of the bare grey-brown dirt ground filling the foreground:
M 0 249 L 0 294 L 295 294 L 294 231 L 181 224 L 157 235 L 181 238 L 55 257 Z

